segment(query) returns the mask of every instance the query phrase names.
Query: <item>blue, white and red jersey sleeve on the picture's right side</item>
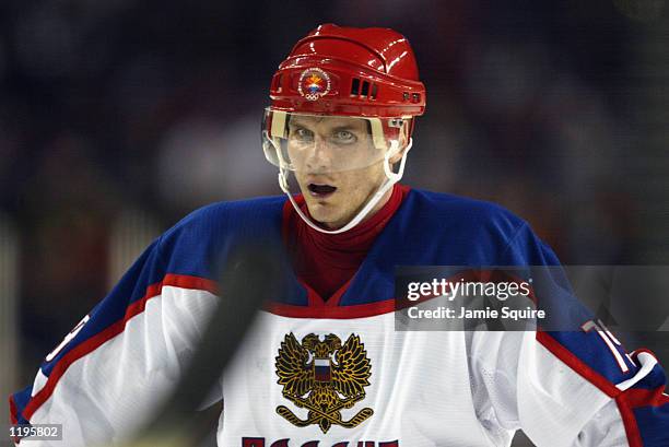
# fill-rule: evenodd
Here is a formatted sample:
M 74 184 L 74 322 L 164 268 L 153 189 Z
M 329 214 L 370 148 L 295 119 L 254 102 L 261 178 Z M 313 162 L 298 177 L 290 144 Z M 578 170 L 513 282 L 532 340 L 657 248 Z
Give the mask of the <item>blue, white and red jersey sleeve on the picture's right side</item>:
M 504 264 L 558 266 L 558 258 L 525 225 Z M 560 318 L 578 306 L 553 270 L 563 294 L 549 307 Z M 541 299 L 539 296 L 538 299 Z M 572 299 L 572 301 L 570 301 Z M 669 446 L 667 377 L 646 350 L 626 352 L 585 308 L 575 330 L 470 334 L 472 393 L 491 436 L 521 428 L 539 447 Z

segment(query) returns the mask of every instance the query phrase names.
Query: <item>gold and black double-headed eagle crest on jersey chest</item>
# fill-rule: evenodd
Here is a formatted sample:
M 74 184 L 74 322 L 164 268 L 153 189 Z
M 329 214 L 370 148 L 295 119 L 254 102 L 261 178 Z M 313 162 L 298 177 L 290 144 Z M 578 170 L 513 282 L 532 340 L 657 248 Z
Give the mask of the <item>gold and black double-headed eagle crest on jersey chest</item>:
M 353 408 L 365 398 L 364 388 L 372 375 L 372 365 L 359 336 L 351 334 L 342 345 L 332 333 L 322 341 L 309 333 L 300 344 L 291 332 L 281 342 L 275 365 L 283 397 L 297 408 L 308 410 L 302 420 L 287 407 L 277 407 L 277 413 L 293 425 L 317 424 L 327 433 L 332 425 L 355 427 L 374 414 L 374 410 L 364 408 L 349 421 L 341 416 L 341 410 Z

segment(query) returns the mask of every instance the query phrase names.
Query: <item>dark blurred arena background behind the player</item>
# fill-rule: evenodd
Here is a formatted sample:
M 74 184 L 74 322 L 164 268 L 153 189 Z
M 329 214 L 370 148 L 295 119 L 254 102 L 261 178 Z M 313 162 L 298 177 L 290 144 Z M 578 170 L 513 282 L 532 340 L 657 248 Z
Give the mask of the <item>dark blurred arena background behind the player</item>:
M 3 0 L 0 393 L 30 384 L 181 216 L 280 193 L 260 148 L 262 109 L 278 63 L 319 23 L 389 26 L 412 43 L 427 113 L 404 183 L 503 204 L 566 264 L 669 263 L 667 9 Z M 661 332 L 634 341 L 669 363 Z

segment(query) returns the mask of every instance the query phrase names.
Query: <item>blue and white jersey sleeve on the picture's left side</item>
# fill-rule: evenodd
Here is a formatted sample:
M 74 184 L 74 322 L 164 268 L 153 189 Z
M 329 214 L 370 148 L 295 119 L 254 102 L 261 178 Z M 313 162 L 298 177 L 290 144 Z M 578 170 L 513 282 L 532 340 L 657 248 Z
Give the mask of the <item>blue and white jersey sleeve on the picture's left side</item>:
M 178 380 L 215 306 L 212 281 L 171 273 L 162 239 L 10 397 L 11 422 L 62 424 L 71 447 L 127 437 Z

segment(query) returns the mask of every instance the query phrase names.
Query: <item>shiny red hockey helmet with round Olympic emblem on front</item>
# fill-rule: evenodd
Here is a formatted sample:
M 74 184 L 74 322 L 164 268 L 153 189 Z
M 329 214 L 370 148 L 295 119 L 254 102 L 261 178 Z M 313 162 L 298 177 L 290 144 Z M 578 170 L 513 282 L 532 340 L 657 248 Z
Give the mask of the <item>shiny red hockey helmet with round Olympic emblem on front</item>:
M 399 118 L 425 110 L 404 36 L 333 24 L 297 42 L 272 78 L 270 98 L 272 109 L 292 113 Z

